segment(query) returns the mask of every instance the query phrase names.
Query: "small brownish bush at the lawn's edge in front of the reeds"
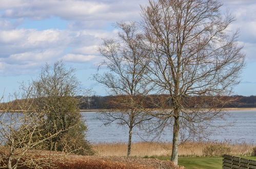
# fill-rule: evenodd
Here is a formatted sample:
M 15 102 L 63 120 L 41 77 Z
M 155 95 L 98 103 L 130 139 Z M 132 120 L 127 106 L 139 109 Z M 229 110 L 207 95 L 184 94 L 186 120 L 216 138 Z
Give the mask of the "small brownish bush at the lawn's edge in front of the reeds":
M 223 156 L 224 154 L 229 154 L 230 152 L 231 148 L 227 147 L 223 143 L 211 144 L 203 149 L 203 154 L 205 156 Z

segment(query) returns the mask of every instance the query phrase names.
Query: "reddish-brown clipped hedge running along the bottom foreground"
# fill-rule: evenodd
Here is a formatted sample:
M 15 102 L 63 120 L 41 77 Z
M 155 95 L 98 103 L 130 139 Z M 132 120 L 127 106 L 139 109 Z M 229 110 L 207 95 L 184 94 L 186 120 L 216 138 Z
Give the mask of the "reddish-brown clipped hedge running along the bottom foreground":
M 3 147 L 0 147 L 0 150 Z M 3 148 L 5 149 L 5 147 Z M 3 152 L 3 151 L 2 151 Z M 48 164 L 41 165 L 40 168 L 50 169 L 182 169 L 183 166 L 176 166 L 171 161 L 157 160 L 157 159 L 145 159 L 140 157 L 103 157 L 103 156 L 82 156 L 69 154 L 64 156 L 63 152 L 50 151 L 30 151 L 27 157 L 24 157 L 22 161 L 27 162 L 18 166 L 19 169 L 35 168 L 31 167 L 29 161 L 34 161 L 33 166 L 40 165 L 45 162 L 40 159 L 46 159 Z M 50 156 L 51 155 L 51 156 Z M 50 158 L 48 158 L 50 157 Z M 6 161 L 4 159 L 4 161 Z M 3 168 L 3 163 L 0 161 L 0 168 Z

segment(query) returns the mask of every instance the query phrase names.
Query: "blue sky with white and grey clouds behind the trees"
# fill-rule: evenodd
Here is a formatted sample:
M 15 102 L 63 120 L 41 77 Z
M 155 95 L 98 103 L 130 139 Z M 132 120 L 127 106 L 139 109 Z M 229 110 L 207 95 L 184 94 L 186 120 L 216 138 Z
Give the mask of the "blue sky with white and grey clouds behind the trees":
M 63 60 L 76 69 L 84 88 L 107 95 L 92 80 L 102 56 L 102 39 L 116 37 L 112 25 L 139 21 L 147 0 L 0 0 L 0 94 L 17 91 L 22 81 L 35 79 L 42 66 Z M 230 29 L 240 30 L 246 67 L 237 95 L 256 95 L 256 1 L 223 0 L 222 11 L 235 16 Z

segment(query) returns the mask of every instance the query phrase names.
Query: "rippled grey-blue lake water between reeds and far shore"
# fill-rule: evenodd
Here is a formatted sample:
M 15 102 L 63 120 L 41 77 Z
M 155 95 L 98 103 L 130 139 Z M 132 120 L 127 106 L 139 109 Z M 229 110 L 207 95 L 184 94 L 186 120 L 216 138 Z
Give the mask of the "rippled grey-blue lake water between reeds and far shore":
M 215 120 L 215 124 L 226 125 L 232 123 L 230 126 L 218 128 L 211 132 L 208 137 L 210 140 L 225 141 L 230 140 L 232 143 L 256 143 L 256 110 L 235 110 L 229 111 L 230 116 L 225 120 Z M 87 139 L 93 143 L 99 142 L 127 142 L 128 129 L 112 123 L 105 126 L 103 122 L 96 119 L 96 112 L 83 112 L 83 117 L 86 119 L 88 126 Z M 171 131 L 171 130 L 170 130 Z M 140 136 L 142 133 L 137 131 L 133 132 L 132 141 L 140 142 L 145 141 L 147 138 Z M 170 142 L 172 140 L 171 134 L 165 132 L 161 135 L 159 141 Z

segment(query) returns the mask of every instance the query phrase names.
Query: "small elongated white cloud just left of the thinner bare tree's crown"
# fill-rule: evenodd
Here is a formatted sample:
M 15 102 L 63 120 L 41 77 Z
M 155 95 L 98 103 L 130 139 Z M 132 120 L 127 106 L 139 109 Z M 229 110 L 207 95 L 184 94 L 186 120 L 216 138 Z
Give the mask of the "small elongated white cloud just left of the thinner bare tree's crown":
M 94 55 L 81 55 L 81 54 L 67 54 L 63 56 L 64 61 L 68 62 L 75 62 L 75 63 L 81 63 L 81 62 L 87 62 L 94 59 L 96 56 Z

